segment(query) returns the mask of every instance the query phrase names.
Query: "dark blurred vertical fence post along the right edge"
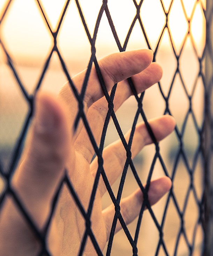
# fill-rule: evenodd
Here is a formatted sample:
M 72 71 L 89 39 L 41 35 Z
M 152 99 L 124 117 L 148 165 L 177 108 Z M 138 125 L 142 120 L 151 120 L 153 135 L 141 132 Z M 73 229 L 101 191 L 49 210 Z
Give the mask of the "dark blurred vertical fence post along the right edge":
M 206 70 L 205 70 L 205 125 L 204 125 L 204 157 L 205 157 L 205 221 L 204 221 L 204 255 L 213 255 L 213 1 L 206 1 Z

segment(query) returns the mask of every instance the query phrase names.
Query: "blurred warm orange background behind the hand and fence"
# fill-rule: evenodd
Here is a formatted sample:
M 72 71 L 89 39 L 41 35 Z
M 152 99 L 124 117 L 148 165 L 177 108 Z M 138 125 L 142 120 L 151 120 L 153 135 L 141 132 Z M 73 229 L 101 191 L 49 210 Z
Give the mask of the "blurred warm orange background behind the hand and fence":
M 41 8 L 54 32 L 58 28 L 66 1 L 41 0 Z M 91 37 L 101 0 L 70 1 L 57 36 L 57 47 L 69 75 L 87 68 L 91 45 L 76 2 L 80 3 Z M 135 18 L 140 6 L 140 19 Z M 163 68 L 160 83 L 145 92 L 143 109 L 147 119 L 171 114 L 176 130 L 160 143 L 160 153 L 173 181 L 171 193 L 152 207 L 163 228 L 163 239 L 169 255 L 201 255 L 203 228 L 201 201 L 203 197 L 203 155 L 201 132 L 204 122 L 204 48 L 205 0 L 108 0 L 108 8 L 117 36 L 125 50 L 150 48 L 154 59 Z M 0 158 L 7 172 L 13 150 L 22 131 L 29 105 L 15 79 L 27 93 L 34 94 L 54 42 L 50 29 L 36 0 L 0 0 Z M 131 24 L 133 28 L 130 31 Z M 128 33 L 130 33 L 128 37 Z M 103 12 L 95 43 L 100 59 L 119 52 L 107 16 Z M 12 59 L 14 70 L 8 65 Z M 57 93 L 67 81 L 59 57 L 53 52 L 39 90 Z M 123 133 L 132 127 L 138 104 L 132 96 L 116 113 Z M 138 122 L 142 121 L 139 117 Z M 105 144 L 118 139 L 111 122 Z M 135 157 L 134 165 L 142 183 L 146 183 L 155 147 L 149 145 Z M 157 159 L 152 179 L 165 175 Z M 119 180 L 113 185 L 117 194 Z M 3 185 L 2 185 L 3 186 Z M 127 172 L 122 197 L 137 187 L 131 169 Z M 111 204 L 104 195 L 103 207 Z M 134 237 L 137 220 L 128 226 Z M 159 231 L 146 211 L 142 218 L 139 255 L 155 255 Z M 114 238 L 111 255 L 131 255 L 132 248 L 121 230 Z M 158 255 L 166 255 L 162 246 Z

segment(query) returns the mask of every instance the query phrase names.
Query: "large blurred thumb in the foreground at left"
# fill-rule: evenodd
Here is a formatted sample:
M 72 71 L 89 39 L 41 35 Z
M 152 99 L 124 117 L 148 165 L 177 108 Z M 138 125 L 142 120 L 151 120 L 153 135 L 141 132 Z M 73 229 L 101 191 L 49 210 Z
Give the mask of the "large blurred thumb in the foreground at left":
M 46 220 L 70 153 L 67 119 L 63 105 L 52 96 L 36 97 L 35 120 L 13 183 L 38 227 Z

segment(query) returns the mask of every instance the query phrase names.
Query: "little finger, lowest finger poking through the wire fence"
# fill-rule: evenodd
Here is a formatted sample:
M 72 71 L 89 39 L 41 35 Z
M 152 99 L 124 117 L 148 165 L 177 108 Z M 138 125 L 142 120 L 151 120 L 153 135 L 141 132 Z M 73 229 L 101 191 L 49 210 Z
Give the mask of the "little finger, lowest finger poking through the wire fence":
M 171 180 L 168 177 L 162 177 L 157 180 L 153 180 L 150 183 L 148 190 L 148 200 L 150 205 L 155 204 L 164 194 L 166 194 L 171 188 Z M 120 213 L 128 225 L 132 222 L 139 214 L 143 202 L 143 193 L 140 189 L 136 190 L 130 196 L 122 199 L 120 201 Z M 109 239 L 112 221 L 115 215 L 115 206 L 110 205 L 103 210 L 103 218 L 107 230 L 107 239 Z M 118 232 L 122 226 L 120 222 L 117 221 L 117 226 L 115 232 Z

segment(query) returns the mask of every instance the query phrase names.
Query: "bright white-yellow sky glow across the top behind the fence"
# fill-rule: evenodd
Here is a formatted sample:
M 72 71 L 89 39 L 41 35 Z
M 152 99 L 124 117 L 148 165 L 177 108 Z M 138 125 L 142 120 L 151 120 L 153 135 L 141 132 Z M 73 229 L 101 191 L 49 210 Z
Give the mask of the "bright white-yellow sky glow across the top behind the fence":
M 7 1 L 1 1 L 0 13 Z M 139 1 L 138 1 L 139 2 Z M 164 0 L 163 5 L 166 12 L 170 7 L 170 0 Z M 190 21 L 190 33 L 198 52 L 201 52 L 205 44 L 205 17 L 203 8 L 205 0 L 189 1 L 174 0 L 168 15 L 168 26 L 177 53 L 182 47 L 183 41 L 188 34 Z M 63 12 L 65 1 L 42 0 L 42 7 L 47 15 L 47 19 L 53 31 L 56 30 L 61 13 Z M 93 35 L 98 12 L 102 5 L 102 0 L 81 0 L 83 14 L 85 16 L 90 34 Z M 92 7 L 91 7 L 92 6 Z M 136 15 L 136 8 L 133 1 L 129 0 L 109 0 L 108 7 L 114 22 L 120 43 L 123 45 L 126 35 Z M 157 41 L 166 23 L 163 7 L 159 0 L 144 0 L 140 13 L 145 31 L 149 38 L 150 46 L 155 50 Z M 7 45 L 7 49 L 16 55 L 16 58 L 31 57 L 37 59 L 39 56 L 47 55 L 51 50 L 53 40 L 45 20 L 41 15 L 36 1 L 14 0 L 1 24 L 2 42 Z M 134 35 L 134 36 L 133 36 Z M 163 42 L 162 42 L 163 44 Z M 75 1 L 69 3 L 63 23 L 59 30 L 58 45 L 64 52 L 69 52 L 71 48 L 81 48 L 82 52 L 89 50 L 87 35 L 79 17 L 78 8 Z M 166 48 L 168 45 L 164 44 Z M 103 14 L 100 29 L 98 30 L 96 47 L 106 49 L 106 55 L 112 51 L 118 51 L 111 29 L 105 13 Z M 147 48 L 145 38 L 139 22 L 135 23 L 133 33 L 127 44 L 127 49 Z M 71 58 L 77 58 L 72 52 Z

